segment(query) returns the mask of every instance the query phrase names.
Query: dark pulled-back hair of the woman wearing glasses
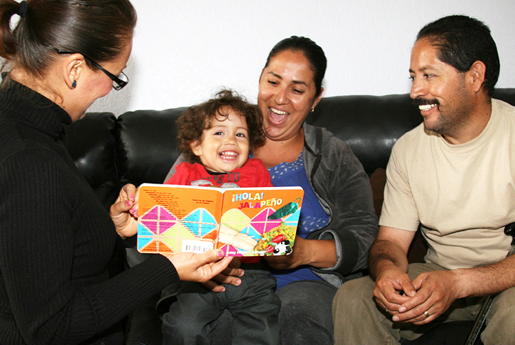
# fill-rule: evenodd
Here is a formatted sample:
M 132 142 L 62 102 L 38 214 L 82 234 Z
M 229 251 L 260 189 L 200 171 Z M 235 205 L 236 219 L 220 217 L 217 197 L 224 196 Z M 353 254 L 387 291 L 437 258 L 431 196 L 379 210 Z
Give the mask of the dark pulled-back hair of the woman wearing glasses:
M 26 15 L 12 30 L 11 17 L 20 7 L 0 0 L 0 57 L 37 78 L 57 58 L 56 49 L 97 63 L 113 61 L 132 39 L 137 20 L 128 0 L 28 0 Z

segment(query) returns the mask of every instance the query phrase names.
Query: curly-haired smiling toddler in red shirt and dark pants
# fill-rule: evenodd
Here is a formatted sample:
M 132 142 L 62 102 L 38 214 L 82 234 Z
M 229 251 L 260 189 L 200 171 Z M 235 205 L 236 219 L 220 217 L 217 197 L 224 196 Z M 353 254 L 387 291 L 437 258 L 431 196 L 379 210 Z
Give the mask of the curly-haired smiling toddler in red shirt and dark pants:
M 264 144 L 262 117 L 256 106 L 231 90 L 192 106 L 177 120 L 179 148 L 186 161 L 165 184 L 272 187 L 268 170 L 249 151 Z M 163 316 L 163 344 L 211 344 L 217 319 L 233 315 L 233 344 L 279 344 L 280 299 L 275 278 L 259 257 L 241 258 L 240 286 L 222 284 L 215 293 L 202 284 L 183 282 L 177 301 Z

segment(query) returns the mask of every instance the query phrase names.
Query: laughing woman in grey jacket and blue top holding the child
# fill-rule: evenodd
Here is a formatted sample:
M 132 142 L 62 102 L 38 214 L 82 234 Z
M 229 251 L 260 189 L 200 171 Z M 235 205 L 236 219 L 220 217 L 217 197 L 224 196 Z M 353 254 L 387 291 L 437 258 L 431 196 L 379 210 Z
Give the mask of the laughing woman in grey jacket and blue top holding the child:
M 265 141 L 253 156 L 268 168 L 274 186 L 304 189 L 292 253 L 266 257 L 277 281 L 284 345 L 333 343 L 333 296 L 344 281 L 362 275 L 378 230 L 369 179 L 356 156 L 327 130 L 304 122 L 321 101 L 326 66 L 324 51 L 311 39 L 284 39 L 269 54 L 257 95 Z M 210 282 L 217 291 L 240 282 L 228 272 L 215 279 L 223 283 L 220 289 Z M 173 312 L 163 316 L 165 339 L 175 326 Z M 227 314 L 217 327 L 227 329 Z

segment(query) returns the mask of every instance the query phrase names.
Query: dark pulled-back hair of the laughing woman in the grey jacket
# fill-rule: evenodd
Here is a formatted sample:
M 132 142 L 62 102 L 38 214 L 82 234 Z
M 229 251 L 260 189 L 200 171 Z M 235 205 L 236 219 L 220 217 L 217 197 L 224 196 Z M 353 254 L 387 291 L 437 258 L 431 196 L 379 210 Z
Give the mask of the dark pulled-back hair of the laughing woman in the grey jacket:
M 322 92 L 322 81 L 324 80 L 325 70 L 327 69 L 327 59 L 324 50 L 317 43 L 311 41 L 307 37 L 292 36 L 283 39 L 277 43 L 266 58 L 264 68 L 269 66 L 270 60 L 284 50 L 292 50 L 293 52 L 302 52 L 309 61 L 311 70 L 313 71 L 313 79 L 315 81 L 316 95 L 318 97 Z

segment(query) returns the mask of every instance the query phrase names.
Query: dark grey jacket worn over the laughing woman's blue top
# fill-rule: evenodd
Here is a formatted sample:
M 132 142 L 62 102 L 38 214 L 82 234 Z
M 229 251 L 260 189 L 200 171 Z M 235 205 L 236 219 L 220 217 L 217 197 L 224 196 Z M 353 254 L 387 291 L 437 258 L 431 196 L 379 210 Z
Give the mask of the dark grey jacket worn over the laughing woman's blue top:
M 338 262 L 311 268 L 333 286 L 362 276 L 378 233 L 369 178 L 351 148 L 324 128 L 304 124 L 304 168 L 329 224 L 308 239 L 335 239 Z

